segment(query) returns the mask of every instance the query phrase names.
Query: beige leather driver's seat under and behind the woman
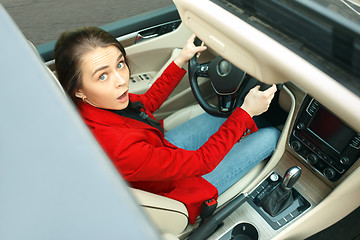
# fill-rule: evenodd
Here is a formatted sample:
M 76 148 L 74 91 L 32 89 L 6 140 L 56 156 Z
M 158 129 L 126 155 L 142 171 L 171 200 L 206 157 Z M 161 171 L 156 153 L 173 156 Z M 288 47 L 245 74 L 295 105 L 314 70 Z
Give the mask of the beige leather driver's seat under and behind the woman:
M 32 43 L 30 43 L 30 45 L 37 53 L 34 45 Z M 46 67 L 46 69 L 48 70 L 49 75 L 54 80 L 54 83 L 59 86 L 62 94 L 66 95 L 55 74 L 49 68 Z M 164 120 L 165 130 L 168 131 L 170 129 L 173 129 L 181 123 L 184 123 L 187 120 L 196 117 L 203 112 L 204 111 L 199 105 L 194 105 L 179 110 L 178 112 L 170 115 Z M 244 189 L 244 187 L 249 184 L 257 174 L 259 174 L 262 168 L 263 163 L 260 163 L 252 171 L 245 175 L 241 179 L 241 182 L 235 184 L 228 191 L 222 194 L 219 197 L 219 206 L 227 202 L 236 193 Z M 134 197 L 138 201 L 139 205 L 143 207 L 144 212 L 152 220 L 152 222 L 159 229 L 159 231 L 161 233 L 164 233 L 165 235 L 169 234 L 167 235 L 167 237 L 165 237 L 166 239 L 176 239 L 176 237 L 174 236 L 179 235 L 185 230 L 188 225 L 188 212 L 183 203 L 139 189 L 130 189 Z

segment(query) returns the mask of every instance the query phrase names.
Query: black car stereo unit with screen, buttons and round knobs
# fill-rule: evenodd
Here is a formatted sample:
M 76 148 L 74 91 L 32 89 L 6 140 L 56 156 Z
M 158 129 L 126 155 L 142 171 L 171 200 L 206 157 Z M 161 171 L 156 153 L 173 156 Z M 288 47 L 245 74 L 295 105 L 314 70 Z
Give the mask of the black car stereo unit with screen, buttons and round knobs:
M 290 147 L 330 181 L 360 157 L 360 134 L 307 96 L 292 129 Z

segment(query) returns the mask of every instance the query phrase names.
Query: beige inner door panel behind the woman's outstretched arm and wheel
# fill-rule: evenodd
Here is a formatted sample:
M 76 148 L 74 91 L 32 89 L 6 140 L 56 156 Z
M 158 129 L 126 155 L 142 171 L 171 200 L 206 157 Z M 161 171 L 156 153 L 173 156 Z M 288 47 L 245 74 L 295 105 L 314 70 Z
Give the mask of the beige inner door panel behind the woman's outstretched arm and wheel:
M 137 94 L 144 93 L 178 56 L 191 34 L 190 30 L 184 24 L 181 24 L 170 33 L 127 47 L 126 52 L 130 62 L 132 77 L 138 78 L 138 76 L 143 76 L 144 74 L 150 75 L 147 80 L 140 79 L 130 82 L 130 92 Z M 211 53 L 203 54 L 203 56 L 202 59 L 213 57 Z M 187 65 L 184 66 L 184 69 L 187 70 Z M 200 79 L 199 85 L 205 95 L 213 96 L 214 92 L 207 79 Z M 155 116 L 158 119 L 163 119 L 179 109 L 196 103 L 189 85 L 188 75 L 186 74 L 161 109 L 156 112 Z

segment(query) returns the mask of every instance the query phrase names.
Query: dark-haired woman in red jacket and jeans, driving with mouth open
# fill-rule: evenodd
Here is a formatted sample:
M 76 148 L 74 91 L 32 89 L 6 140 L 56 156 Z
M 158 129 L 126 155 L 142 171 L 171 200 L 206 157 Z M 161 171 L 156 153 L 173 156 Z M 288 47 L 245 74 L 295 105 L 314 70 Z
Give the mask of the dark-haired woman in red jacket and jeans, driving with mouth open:
M 109 33 L 80 28 L 63 33 L 55 47 L 59 81 L 124 179 L 132 187 L 183 202 L 190 223 L 205 200 L 216 198 L 218 190 L 222 193 L 268 157 L 279 137 L 274 128 L 256 132 L 252 119 L 268 109 L 275 86 L 264 92 L 252 89 L 228 119 L 203 114 L 164 133 L 152 113 L 184 76 L 182 66 L 206 49 L 196 47 L 194 38 L 142 95 L 129 93 L 126 52 Z

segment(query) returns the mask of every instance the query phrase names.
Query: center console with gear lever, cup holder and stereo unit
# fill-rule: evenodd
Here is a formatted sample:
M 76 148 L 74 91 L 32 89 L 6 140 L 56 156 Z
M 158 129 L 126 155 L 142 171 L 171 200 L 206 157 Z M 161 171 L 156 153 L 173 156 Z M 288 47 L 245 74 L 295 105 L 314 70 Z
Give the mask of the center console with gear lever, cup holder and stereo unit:
M 200 226 L 205 237 L 197 238 L 196 231 L 189 239 L 283 239 L 334 191 L 324 179 L 340 180 L 360 157 L 360 134 L 310 96 L 287 133 L 284 143 L 294 151 L 287 147 L 258 184 L 216 212 L 211 229 Z

